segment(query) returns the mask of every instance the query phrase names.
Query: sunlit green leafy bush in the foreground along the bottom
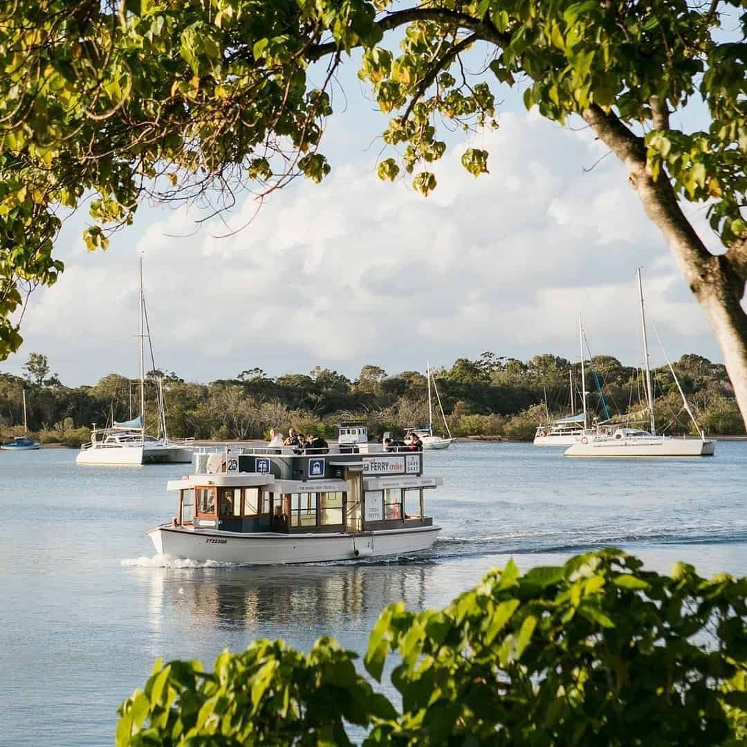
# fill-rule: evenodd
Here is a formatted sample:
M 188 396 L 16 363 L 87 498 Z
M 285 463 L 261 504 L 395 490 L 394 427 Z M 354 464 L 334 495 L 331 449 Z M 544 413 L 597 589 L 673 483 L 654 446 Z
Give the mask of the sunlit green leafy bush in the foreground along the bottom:
M 747 579 L 666 576 L 622 551 L 491 571 L 444 610 L 387 607 L 365 667 L 394 656 L 397 710 L 319 639 L 257 641 L 199 663 L 156 663 L 120 707 L 117 746 L 736 746 L 747 739 Z

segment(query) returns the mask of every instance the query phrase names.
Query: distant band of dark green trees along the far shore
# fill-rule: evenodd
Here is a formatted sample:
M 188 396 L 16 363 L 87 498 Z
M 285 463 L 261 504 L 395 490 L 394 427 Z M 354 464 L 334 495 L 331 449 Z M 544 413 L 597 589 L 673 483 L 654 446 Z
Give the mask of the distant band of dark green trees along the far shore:
M 76 444 L 88 438 L 90 424 L 99 427 L 137 415 L 136 379 L 110 373 L 94 386 L 69 388 L 49 373 L 46 358 L 32 353 L 28 379 L 0 374 L 0 431 L 15 433 L 22 423 L 22 388 L 26 391 L 29 430 L 42 441 Z M 39 373 L 39 361 L 43 368 Z M 745 432 L 734 391 L 723 365 L 697 355 L 684 355 L 674 364 L 690 406 L 707 433 Z M 580 411 L 580 363 L 553 355 L 528 361 L 483 353 L 476 360 L 457 359 L 451 368 L 433 372 L 441 403 L 454 436 L 502 436 L 527 440 L 536 426 L 571 411 L 570 376 L 575 409 Z M 46 372 L 46 373 L 44 373 Z M 419 371 L 388 375 L 366 365 L 351 380 L 328 368 L 288 373 L 273 378 L 260 368 L 242 371 L 235 379 L 209 384 L 186 382 L 176 373 L 152 371 L 147 376 L 146 425 L 157 431 L 155 393 L 163 379 L 170 436 L 243 439 L 266 438 L 271 427 L 287 432 L 334 437 L 335 424 L 363 418 L 369 434 L 386 430 L 401 436 L 428 422 L 427 378 Z M 595 356 L 586 364 L 588 408 L 592 417 L 609 414 L 620 419 L 640 412 L 644 385 L 641 372 L 612 356 Z M 657 430 L 694 433 L 668 368 L 654 371 Z M 605 410 L 606 406 L 606 410 Z M 434 400 L 434 425 L 442 430 Z

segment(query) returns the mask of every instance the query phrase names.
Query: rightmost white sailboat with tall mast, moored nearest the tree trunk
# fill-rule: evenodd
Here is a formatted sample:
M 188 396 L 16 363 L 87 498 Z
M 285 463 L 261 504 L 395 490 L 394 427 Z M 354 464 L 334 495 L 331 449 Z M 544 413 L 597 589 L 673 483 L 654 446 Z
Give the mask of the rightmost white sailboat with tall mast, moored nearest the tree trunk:
M 675 379 L 677 388 L 682 397 L 684 408 L 692 418 L 693 424 L 700 433 L 700 438 L 678 438 L 675 436 L 657 436 L 654 423 L 654 389 L 651 384 L 651 367 L 648 359 L 648 338 L 646 336 L 646 317 L 643 305 L 643 286 L 641 282 L 641 268 L 638 268 L 638 292 L 641 306 L 641 326 L 643 333 L 643 359 L 645 362 L 645 391 L 646 403 L 648 405 L 648 419 L 651 430 L 646 431 L 639 428 L 619 427 L 605 436 L 584 436 L 580 443 L 572 444 L 565 450 L 565 456 L 608 456 L 608 457 L 631 457 L 631 456 L 713 456 L 716 450 L 716 441 L 706 438 L 705 433 L 695 421 L 692 410 L 689 408 L 684 391 L 680 385 L 675 369 L 667 359 L 669 371 Z M 658 336 L 658 335 L 657 335 Z M 661 343 L 661 340 L 659 341 Z M 663 346 L 662 346 L 663 349 Z M 665 353 L 666 355 L 666 353 Z

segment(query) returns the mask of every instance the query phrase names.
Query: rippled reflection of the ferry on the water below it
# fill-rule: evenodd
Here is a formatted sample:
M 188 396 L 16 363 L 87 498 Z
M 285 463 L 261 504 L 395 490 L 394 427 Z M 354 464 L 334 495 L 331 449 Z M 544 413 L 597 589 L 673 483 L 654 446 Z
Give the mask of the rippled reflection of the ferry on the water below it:
M 132 568 L 147 586 L 153 632 L 175 627 L 249 632 L 252 637 L 368 636 L 387 604 L 426 605 L 433 564 L 359 562 L 254 568 Z M 162 652 L 157 652 L 162 653 Z

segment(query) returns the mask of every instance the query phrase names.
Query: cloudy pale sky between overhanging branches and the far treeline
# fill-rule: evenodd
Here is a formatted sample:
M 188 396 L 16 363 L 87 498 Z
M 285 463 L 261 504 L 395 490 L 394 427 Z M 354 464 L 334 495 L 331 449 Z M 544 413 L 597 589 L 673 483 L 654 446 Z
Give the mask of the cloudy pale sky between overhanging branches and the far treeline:
M 320 365 L 351 378 L 367 364 L 424 371 L 427 360 L 450 366 L 486 350 L 578 360 L 579 314 L 593 354 L 640 365 L 639 266 L 669 358 L 721 360 L 624 169 L 580 120 L 561 128 L 509 92 L 497 131 L 449 137 L 438 188 L 424 198 L 409 181 L 377 178 L 386 118 L 354 75 L 348 66 L 345 96 L 335 96 L 344 111 L 323 137 L 332 173 L 273 193 L 236 235 L 216 238 L 226 227 L 215 223 L 196 231 L 196 211 L 143 205 L 107 252 L 90 253 L 84 211 L 69 220 L 55 248 L 66 270 L 32 294 L 24 344 L 0 371 L 21 373 L 35 352 L 66 385 L 137 376 L 140 255 L 155 363 L 192 381 L 253 367 L 279 376 Z M 469 145 L 489 151 L 488 175 L 462 168 Z M 704 210 L 685 209 L 716 249 Z M 255 210 L 245 196 L 230 226 Z M 652 333 L 649 342 L 663 364 Z

